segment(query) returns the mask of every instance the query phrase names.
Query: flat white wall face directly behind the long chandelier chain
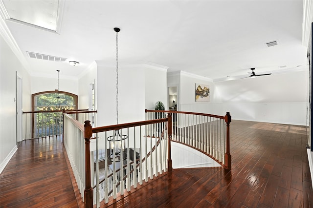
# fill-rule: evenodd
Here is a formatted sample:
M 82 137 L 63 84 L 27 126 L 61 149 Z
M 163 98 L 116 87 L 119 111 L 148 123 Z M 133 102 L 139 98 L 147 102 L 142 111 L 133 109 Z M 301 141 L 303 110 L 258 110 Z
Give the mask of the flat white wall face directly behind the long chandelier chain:
M 144 120 L 144 69 L 119 64 L 118 123 Z M 97 62 L 98 126 L 116 124 L 116 66 Z

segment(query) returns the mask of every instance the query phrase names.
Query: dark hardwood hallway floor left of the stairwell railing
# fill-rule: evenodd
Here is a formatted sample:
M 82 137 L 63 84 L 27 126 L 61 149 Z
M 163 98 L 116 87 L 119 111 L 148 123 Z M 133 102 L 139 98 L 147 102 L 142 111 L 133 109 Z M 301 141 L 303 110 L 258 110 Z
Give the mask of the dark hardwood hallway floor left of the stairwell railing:
M 59 138 L 19 144 L 0 174 L 0 207 L 78 207 Z

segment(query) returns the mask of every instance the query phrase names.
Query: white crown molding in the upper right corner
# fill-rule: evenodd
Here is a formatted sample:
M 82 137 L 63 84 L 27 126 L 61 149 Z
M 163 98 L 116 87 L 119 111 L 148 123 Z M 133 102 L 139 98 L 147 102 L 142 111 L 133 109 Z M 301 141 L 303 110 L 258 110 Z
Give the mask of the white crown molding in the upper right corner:
M 308 47 L 313 22 L 313 0 L 303 1 L 302 45 Z

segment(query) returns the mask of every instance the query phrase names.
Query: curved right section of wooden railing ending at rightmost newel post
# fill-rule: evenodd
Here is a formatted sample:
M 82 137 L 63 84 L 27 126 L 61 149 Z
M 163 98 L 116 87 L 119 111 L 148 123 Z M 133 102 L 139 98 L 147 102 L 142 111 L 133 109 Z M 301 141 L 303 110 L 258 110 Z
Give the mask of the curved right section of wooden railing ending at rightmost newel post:
M 146 110 L 146 120 L 172 113 L 172 141 L 195 148 L 231 169 L 229 112 L 225 116 L 183 111 Z

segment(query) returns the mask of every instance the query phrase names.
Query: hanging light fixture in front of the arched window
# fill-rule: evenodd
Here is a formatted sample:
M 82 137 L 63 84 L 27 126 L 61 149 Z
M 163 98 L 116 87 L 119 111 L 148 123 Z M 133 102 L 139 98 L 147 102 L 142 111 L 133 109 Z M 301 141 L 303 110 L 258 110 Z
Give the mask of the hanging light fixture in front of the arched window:
M 56 97 L 52 98 L 49 102 L 48 105 L 46 105 L 45 107 L 40 107 L 41 111 L 47 111 L 47 110 L 73 110 L 74 107 L 72 105 L 67 104 L 67 99 L 66 98 L 61 98 L 60 94 L 59 94 L 59 72 L 60 70 L 57 70 L 58 73 L 58 89 L 56 89 L 55 91 L 56 93 Z

